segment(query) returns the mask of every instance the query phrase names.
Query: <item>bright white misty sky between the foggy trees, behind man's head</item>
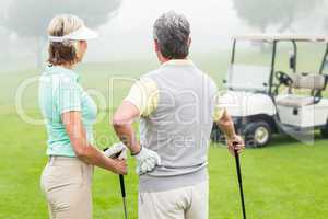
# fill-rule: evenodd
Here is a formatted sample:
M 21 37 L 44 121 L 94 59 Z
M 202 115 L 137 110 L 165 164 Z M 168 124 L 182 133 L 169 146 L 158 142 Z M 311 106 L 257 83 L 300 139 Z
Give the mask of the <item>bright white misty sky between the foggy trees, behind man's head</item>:
M 115 53 L 112 58 L 152 56 L 152 24 L 169 10 L 189 19 L 194 51 L 211 53 L 227 47 L 229 35 L 247 32 L 231 0 L 124 0 L 118 14 L 99 28 L 101 38 L 92 43 L 93 49 L 105 47 L 104 50 Z

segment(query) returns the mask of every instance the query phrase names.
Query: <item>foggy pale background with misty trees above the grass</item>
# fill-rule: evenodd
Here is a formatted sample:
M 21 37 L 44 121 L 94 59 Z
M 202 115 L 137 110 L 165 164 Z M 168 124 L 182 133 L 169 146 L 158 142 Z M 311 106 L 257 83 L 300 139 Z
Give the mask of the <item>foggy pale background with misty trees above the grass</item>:
M 0 71 L 43 66 L 46 27 L 58 13 L 99 32 L 86 61 L 154 59 L 152 24 L 169 10 L 189 19 L 191 55 L 199 56 L 226 51 L 234 34 L 328 32 L 327 0 L 1 0 Z

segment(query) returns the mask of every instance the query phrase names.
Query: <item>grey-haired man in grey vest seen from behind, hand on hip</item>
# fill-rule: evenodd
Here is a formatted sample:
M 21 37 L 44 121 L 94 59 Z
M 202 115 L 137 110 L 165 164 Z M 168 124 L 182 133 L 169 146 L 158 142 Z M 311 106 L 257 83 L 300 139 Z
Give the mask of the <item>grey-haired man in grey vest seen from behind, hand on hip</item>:
M 139 161 L 140 219 L 206 219 L 213 120 L 232 152 L 239 152 L 244 142 L 227 112 L 218 106 L 214 82 L 187 59 L 191 43 L 187 19 L 164 13 L 153 31 L 162 66 L 132 85 L 114 115 L 114 128 Z M 140 143 L 131 125 L 138 117 Z

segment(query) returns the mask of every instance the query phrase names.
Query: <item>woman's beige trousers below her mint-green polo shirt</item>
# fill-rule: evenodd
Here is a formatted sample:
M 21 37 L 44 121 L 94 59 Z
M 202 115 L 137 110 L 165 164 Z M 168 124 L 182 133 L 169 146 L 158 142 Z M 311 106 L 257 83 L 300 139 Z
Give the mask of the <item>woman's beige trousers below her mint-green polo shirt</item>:
M 92 219 L 93 166 L 77 158 L 51 157 L 42 175 L 50 219 Z

